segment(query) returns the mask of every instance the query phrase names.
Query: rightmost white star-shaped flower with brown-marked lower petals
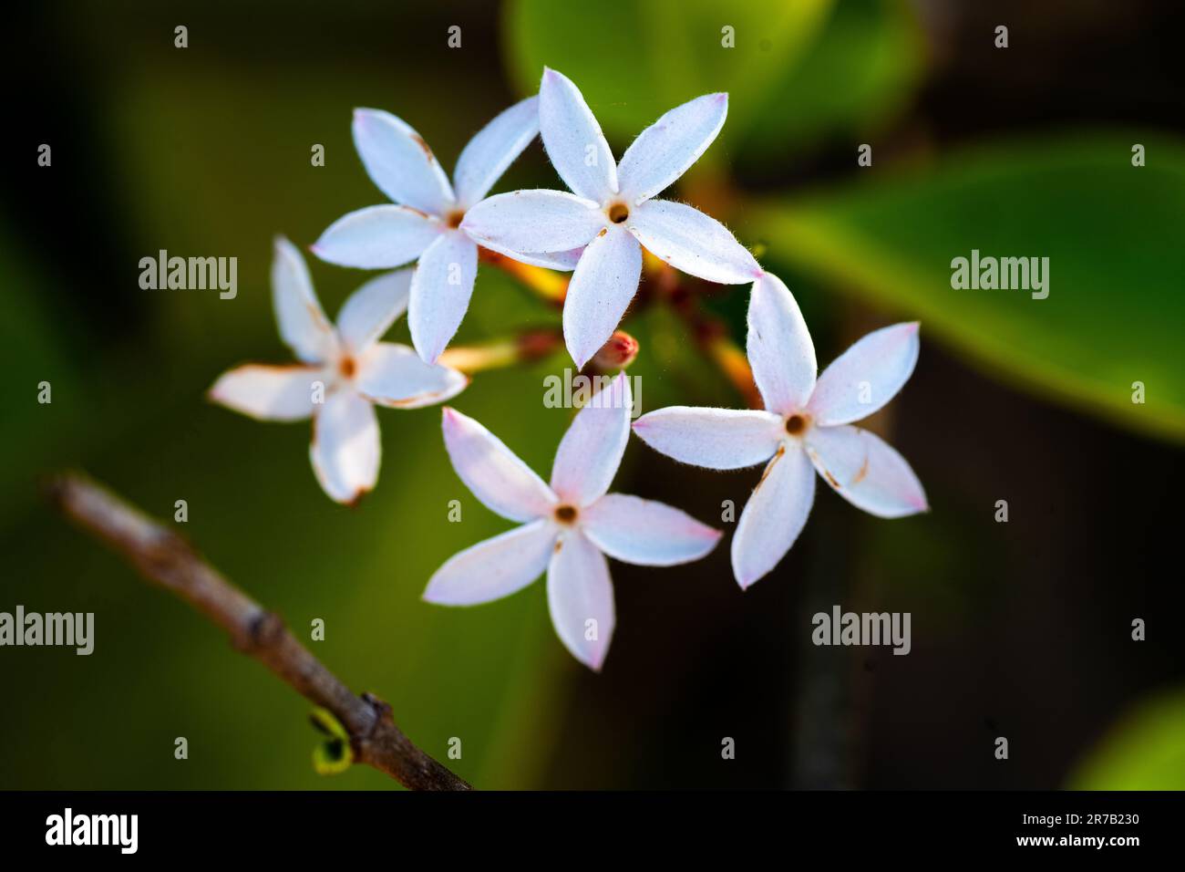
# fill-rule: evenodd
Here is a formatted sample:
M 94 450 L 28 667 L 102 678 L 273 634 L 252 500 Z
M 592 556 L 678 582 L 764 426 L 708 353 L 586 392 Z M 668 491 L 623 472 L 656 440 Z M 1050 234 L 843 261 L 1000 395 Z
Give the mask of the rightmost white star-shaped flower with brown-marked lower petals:
M 748 587 L 794 545 L 814 501 L 814 472 L 879 517 L 928 509 L 917 476 L 879 437 L 848 426 L 884 406 L 914 371 L 917 323 L 869 333 L 815 381 L 802 313 L 766 273 L 749 298 L 749 364 L 764 412 L 672 406 L 634 422 L 653 448 L 683 463 L 735 470 L 769 460 L 732 539 L 732 572 Z M 773 458 L 773 459 L 770 459 Z

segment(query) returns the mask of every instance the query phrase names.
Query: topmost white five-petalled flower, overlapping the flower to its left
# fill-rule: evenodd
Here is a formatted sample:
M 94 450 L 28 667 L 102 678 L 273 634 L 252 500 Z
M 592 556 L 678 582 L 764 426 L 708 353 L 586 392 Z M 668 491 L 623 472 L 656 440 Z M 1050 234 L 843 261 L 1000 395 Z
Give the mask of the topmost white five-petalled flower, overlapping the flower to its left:
M 736 285 L 761 275 L 757 261 L 718 221 L 683 203 L 652 199 L 712 144 L 728 102 L 726 94 L 709 94 L 675 107 L 642 131 L 619 165 L 576 85 L 544 70 L 543 145 L 572 193 L 501 193 L 473 206 L 461 228 L 518 260 L 584 248 L 564 303 L 564 338 L 577 365 L 609 339 L 634 298 L 641 246 L 707 281 Z

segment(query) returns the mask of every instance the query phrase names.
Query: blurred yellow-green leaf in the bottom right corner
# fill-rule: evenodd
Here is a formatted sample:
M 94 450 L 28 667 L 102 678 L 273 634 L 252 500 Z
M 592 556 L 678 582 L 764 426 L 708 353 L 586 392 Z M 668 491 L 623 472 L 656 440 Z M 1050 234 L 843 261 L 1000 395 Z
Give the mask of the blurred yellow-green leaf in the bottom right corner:
M 1185 789 L 1185 690 L 1123 718 L 1070 776 L 1071 790 Z

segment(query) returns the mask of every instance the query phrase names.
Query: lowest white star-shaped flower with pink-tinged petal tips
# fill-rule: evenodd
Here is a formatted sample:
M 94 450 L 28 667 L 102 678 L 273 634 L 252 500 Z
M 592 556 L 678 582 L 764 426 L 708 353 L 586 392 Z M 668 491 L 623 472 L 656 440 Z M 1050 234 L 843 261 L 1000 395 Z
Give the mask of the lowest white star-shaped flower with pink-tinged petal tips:
M 600 669 L 614 628 L 604 555 L 673 566 L 698 560 L 720 537 L 664 503 L 607 494 L 629 439 L 629 381 L 619 375 L 564 434 L 550 486 L 489 431 L 446 408 L 444 445 L 456 473 L 488 509 L 523 526 L 453 556 L 433 575 L 424 599 L 487 603 L 526 587 L 546 569 L 559 639 L 582 663 Z

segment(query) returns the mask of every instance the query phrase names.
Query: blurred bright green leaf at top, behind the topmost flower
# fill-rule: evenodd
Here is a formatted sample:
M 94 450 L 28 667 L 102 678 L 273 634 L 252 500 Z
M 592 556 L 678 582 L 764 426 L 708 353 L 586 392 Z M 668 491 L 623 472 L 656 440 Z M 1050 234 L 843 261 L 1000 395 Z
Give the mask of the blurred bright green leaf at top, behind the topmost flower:
M 725 129 L 736 135 L 815 40 L 831 7 L 832 0 L 729 7 L 710 0 L 514 0 L 504 45 L 524 94 L 537 91 L 543 68 L 553 66 L 576 82 L 610 135 L 636 136 L 667 109 L 712 91 L 729 91 Z M 725 26 L 734 28 L 735 47 L 722 44 Z

